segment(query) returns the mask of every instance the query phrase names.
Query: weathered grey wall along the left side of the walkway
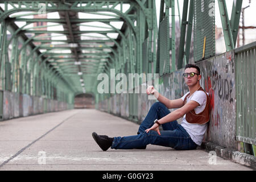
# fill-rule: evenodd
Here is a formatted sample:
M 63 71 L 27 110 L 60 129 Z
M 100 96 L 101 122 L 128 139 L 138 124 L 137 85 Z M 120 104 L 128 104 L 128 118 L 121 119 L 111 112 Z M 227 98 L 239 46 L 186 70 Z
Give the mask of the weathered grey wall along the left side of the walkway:
M 56 100 L 46 100 L 43 97 L 13 93 L 6 90 L 1 92 L 3 93 L 2 120 L 73 108 L 71 104 Z

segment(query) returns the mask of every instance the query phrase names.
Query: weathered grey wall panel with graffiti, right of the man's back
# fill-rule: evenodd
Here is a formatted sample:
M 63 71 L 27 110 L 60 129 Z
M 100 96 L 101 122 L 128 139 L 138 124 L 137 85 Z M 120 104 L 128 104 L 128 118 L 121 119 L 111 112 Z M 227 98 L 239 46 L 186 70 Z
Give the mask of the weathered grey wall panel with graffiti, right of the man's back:
M 211 115 L 208 141 L 236 148 L 236 81 L 233 52 L 207 60 Z

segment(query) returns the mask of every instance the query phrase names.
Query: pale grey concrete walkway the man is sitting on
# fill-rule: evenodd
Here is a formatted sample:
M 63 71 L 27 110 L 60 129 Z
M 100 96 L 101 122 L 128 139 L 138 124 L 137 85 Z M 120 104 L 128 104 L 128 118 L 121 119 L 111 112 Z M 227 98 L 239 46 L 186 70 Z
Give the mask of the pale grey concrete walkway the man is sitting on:
M 251 170 L 204 150 L 102 151 L 92 132 L 135 135 L 138 125 L 94 109 L 67 110 L 0 122 L 0 170 Z M 215 157 L 215 156 L 214 156 Z

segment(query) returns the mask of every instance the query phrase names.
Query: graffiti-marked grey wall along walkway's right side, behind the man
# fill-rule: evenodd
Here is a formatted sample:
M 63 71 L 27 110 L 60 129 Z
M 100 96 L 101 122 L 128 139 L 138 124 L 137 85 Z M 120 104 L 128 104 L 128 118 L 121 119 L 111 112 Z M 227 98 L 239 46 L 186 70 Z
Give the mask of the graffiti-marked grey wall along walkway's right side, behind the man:
M 204 140 L 227 148 L 237 149 L 236 142 L 236 81 L 234 52 L 226 52 L 196 63 L 201 69 L 201 86 L 210 96 L 210 122 Z M 188 86 L 182 76 L 184 69 L 159 78 L 159 92 L 173 100 L 187 93 Z M 130 94 L 115 94 L 98 104 L 98 109 L 129 118 Z M 138 94 L 138 123 L 146 117 L 155 100 L 147 94 Z M 174 109 L 170 109 L 172 111 Z M 179 120 L 180 121 L 180 120 Z

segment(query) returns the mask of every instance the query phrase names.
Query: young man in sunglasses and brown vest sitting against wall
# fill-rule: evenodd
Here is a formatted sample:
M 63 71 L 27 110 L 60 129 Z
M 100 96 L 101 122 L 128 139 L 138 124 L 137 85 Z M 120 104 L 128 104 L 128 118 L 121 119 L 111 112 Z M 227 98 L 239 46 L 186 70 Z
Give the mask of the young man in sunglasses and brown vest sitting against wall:
M 102 150 L 145 149 L 147 144 L 171 147 L 176 150 L 193 150 L 201 145 L 207 122 L 210 119 L 209 96 L 200 86 L 200 68 L 187 64 L 183 77 L 189 92 L 176 100 L 159 94 L 154 86 L 148 86 L 147 94 L 154 94 L 159 102 L 155 102 L 139 126 L 137 135 L 109 138 L 107 135 L 92 136 Z M 176 109 L 170 112 L 169 109 Z M 176 119 L 182 118 L 181 124 Z M 159 130 L 162 125 L 163 130 Z

